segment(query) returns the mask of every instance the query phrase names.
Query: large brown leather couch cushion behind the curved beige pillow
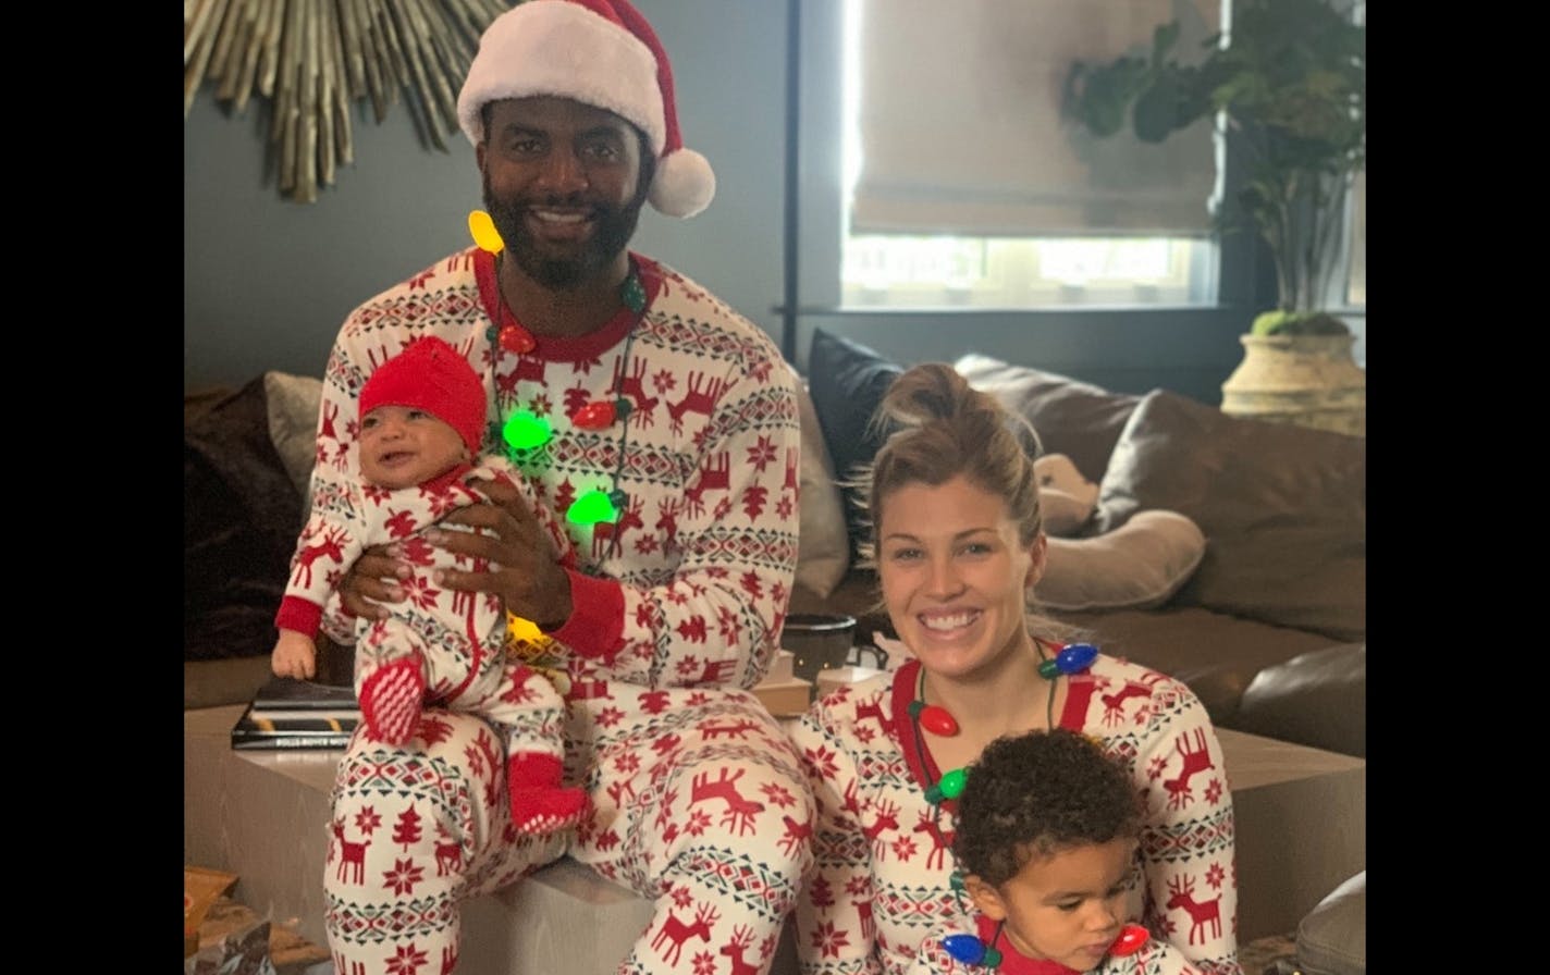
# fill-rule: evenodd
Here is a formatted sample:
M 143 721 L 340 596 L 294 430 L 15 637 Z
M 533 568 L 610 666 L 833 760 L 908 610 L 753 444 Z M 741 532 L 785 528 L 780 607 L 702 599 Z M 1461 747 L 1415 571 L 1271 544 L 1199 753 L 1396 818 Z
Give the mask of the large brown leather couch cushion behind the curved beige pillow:
M 1206 533 L 1206 555 L 1173 605 L 1362 640 L 1366 443 L 1158 389 L 1114 445 L 1091 533 L 1144 508 L 1180 512 Z

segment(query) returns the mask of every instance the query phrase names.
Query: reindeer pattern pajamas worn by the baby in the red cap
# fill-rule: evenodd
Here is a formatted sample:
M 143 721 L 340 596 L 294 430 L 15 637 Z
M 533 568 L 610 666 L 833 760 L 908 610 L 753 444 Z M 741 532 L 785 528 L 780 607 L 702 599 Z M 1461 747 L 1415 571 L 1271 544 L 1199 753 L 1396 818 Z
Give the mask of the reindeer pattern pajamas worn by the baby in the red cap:
M 522 490 L 522 477 L 504 457 L 477 468 L 462 465 L 440 477 L 398 490 L 358 484 L 313 505 L 291 558 L 290 583 L 276 625 L 316 634 L 322 608 L 344 572 L 370 546 L 400 543 L 412 575 L 409 598 L 391 606 L 384 620 L 355 622 L 355 693 L 383 667 L 415 663 L 425 696 L 445 707 L 484 715 L 501 730 L 504 752 L 560 756 L 564 702 L 553 685 L 521 660 L 505 656 L 505 614 L 499 600 L 439 589 L 436 567 L 482 569 L 476 560 L 428 544 L 420 532 L 442 516 L 484 496 L 468 477 L 501 479 Z M 561 552 L 569 539 L 549 512 L 539 522 Z M 446 525 L 450 530 L 456 525 Z

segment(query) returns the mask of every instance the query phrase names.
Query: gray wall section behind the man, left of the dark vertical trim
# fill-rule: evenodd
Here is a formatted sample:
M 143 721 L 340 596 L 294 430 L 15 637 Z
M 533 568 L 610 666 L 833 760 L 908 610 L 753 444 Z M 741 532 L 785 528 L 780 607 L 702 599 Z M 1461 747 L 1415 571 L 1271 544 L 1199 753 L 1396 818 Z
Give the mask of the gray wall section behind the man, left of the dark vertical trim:
M 786 5 L 636 0 L 673 59 L 684 141 L 716 171 L 690 220 L 646 206 L 632 246 L 780 333 L 786 146 Z M 355 163 L 316 203 L 274 184 L 264 104 L 225 113 L 212 85 L 183 129 L 183 389 L 239 386 L 267 369 L 321 375 L 344 316 L 471 243 L 479 171 L 462 133 L 422 147 L 400 101 L 352 124 Z

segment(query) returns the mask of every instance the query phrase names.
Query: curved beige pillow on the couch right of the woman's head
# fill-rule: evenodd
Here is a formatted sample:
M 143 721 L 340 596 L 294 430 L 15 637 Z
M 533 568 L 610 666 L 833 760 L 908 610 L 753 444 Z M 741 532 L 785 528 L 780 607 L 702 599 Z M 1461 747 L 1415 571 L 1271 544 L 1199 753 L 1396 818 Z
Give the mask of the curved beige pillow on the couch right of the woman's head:
M 1178 512 L 1136 512 L 1096 538 L 1049 538 L 1034 584 L 1040 609 L 1152 609 L 1189 581 L 1206 553 L 1200 527 Z

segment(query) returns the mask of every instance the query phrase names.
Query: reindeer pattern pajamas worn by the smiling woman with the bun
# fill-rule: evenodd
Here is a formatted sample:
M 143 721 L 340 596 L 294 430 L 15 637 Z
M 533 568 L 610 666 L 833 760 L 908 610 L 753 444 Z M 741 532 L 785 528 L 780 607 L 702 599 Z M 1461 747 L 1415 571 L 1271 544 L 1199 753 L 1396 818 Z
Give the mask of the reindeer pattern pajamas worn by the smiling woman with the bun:
M 950 887 L 953 801 L 925 801 L 907 752 L 919 663 L 839 688 L 794 729 L 817 804 L 815 868 L 797 905 L 803 975 L 905 975 L 918 947 L 975 930 Z M 1172 677 L 1099 654 L 1070 680 L 1062 727 L 1130 766 L 1145 801 L 1141 922 L 1197 969 L 1242 975 L 1232 795 L 1221 746 L 1195 694 Z M 942 769 L 921 760 L 930 781 Z M 969 786 L 973 787 L 970 773 Z

